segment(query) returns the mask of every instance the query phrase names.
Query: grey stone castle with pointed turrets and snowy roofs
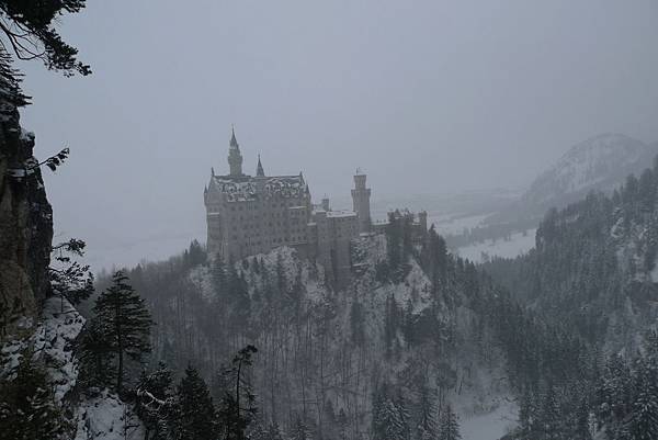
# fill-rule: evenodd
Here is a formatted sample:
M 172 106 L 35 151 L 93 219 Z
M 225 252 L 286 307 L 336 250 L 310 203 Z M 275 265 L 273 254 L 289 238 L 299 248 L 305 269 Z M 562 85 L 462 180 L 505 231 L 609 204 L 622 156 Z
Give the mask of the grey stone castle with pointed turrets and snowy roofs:
M 265 176 L 258 159 L 256 176 L 242 172 L 235 131 L 228 148 L 229 173 L 215 176 L 204 190 L 207 250 L 226 261 L 290 246 L 324 266 L 336 285 L 350 279 L 350 242 L 373 230 L 365 174 L 356 172 L 353 211 L 332 211 L 329 200 L 314 205 L 302 172 Z

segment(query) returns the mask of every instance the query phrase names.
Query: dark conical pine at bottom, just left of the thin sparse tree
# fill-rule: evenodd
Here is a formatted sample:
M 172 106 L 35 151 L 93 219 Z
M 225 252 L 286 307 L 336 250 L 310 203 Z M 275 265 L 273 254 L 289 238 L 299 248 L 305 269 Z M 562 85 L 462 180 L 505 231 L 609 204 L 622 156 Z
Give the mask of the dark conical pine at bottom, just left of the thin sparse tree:
M 219 436 L 213 398 L 192 365 L 177 387 L 172 419 L 175 440 L 216 440 Z

